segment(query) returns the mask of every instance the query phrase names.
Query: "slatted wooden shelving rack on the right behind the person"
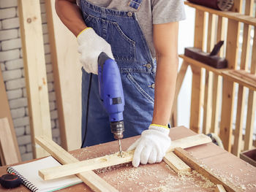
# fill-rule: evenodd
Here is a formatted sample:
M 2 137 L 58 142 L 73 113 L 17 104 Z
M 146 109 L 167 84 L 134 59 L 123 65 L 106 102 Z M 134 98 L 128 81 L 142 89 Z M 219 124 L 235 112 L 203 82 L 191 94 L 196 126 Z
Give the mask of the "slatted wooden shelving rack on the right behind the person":
M 212 46 L 213 39 L 225 40 L 225 46 L 220 51 L 219 55 L 227 58 L 227 69 L 215 69 L 207 64 L 200 63 L 192 58 L 188 58 L 185 55 L 179 55 L 184 59 L 184 62 L 192 67 L 192 99 L 191 99 L 191 117 L 190 128 L 199 133 L 200 130 L 203 133 L 214 132 L 219 134 L 225 149 L 231 151 L 233 146 L 233 153 L 238 155 L 241 152 L 242 139 L 244 138 L 244 150 L 252 147 L 252 135 L 253 135 L 253 123 L 255 120 L 255 108 L 256 108 L 256 37 L 253 39 L 252 47 L 252 61 L 250 66 L 250 72 L 248 72 L 249 66 L 249 53 L 250 53 L 250 32 L 252 26 L 256 28 L 256 19 L 252 17 L 253 12 L 253 0 L 246 0 L 245 15 L 241 14 L 241 0 L 235 0 L 235 5 L 231 12 L 222 12 L 208 7 L 203 7 L 197 4 L 192 4 L 185 1 L 189 7 L 194 7 L 195 12 L 195 47 L 200 47 L 202 50 L 206 50 L 203 45 L 207 45 L 207 51 L 209 52 Z M 208 14 L 208 37 L 205 37 L 206 29 L 206 14 Z M 217 30 L 214 29 L 214 15 L 218 16 Z M 226 23 L 226 20 L 228 21 Z M 241 23 L 244 23 L 243 43 L 241 46 L 241 65 L 238 69 L 238 37 L 240 33 Z M 227 26 L 227 28 L 226 28 Z M 217 31 L 217 35 L 214 35 Z M 256 29 L 255 29 L 256 33 Z M 207 39 L 207 44 L 204 40 Z M 240 60 L 239 60 L 240 61 Z M 202 69 L 206 69 L 205 85 L 202 85 Z M 211 80 L 211 72 L 213 73 L 213 80 Z M 222 82 L 220 82 L 222 77 Z M 233 140 L 233 112 L 235 102 L 235 82 L 238 83 L 238 104 L 236 105 L 236 131 L 234 145 Z M 180 84 L 182 82 L 179 82 Z M 220 100 L 220 86 L 222 83 L 222 109 L 219 128 L 219 100 Z M 212 87 L 211 87 L 212 86 Z M 247 102 L 247 117 L 246 117 L 246 134 L 242 137 L 242 122 L 244 121 L 244 109 L 246 104 L 245 88 L 249 88 L 249 98 Z M 213 90 L 212 95 L 209 95 Z M 203 96 L 201 96 L 204 93 Z M 178 93 L 176 93 L 178 96 Z M 212 96 L 212 103 L 209 102 L 209 96 Z M 177 99 L 176 99 L 177 100 Z M 175 100 L 175 101 L 176 101 Z M 210 99 L 211 100 L 211 99 Z M 174 104 L 175 106 L 175 104 Z M 204 109 L 203 112 L 203 127 L 200 127 L 200 109 Z M 212 109 L 212 110 L 211 110 Z M 209 113 L 209 111 L 212 111 Z M 196 114 L 195 114 L 196 113 Z

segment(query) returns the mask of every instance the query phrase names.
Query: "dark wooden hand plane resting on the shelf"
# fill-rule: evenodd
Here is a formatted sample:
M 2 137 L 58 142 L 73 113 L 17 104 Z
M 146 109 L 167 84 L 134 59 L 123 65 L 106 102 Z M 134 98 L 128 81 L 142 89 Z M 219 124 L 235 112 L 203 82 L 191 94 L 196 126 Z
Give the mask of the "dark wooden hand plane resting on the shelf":
M 227 67 L 227 60 L 217 55 L 223 43 L 223 41 L 218 42 L 217 45 L 214 46 L 214 49 L 211 51 L 211 53 L 205 53 L 195 47 L 187 47 L 185 48 L 184 55 L 189 58 L 193 58 L 196 61 L 200 61 L 201 63 L 208 66 L 212 66 L 217 69 L 223 69 Z

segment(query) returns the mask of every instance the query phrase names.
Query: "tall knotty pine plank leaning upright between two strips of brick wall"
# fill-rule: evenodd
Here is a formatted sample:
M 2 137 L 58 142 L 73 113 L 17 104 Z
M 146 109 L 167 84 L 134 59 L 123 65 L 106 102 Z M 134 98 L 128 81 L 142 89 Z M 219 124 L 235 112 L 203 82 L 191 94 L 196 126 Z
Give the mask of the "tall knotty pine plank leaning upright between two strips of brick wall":
M 46 135 L 51 138 L 50 107 L 39 0 L 19 0 L 18 9 L 26 91 L 29 100 L 32 149 L 34 158 L 39 158 L 48 155 L 48 153 L 42 148 L 36 147 L 34 137 Z

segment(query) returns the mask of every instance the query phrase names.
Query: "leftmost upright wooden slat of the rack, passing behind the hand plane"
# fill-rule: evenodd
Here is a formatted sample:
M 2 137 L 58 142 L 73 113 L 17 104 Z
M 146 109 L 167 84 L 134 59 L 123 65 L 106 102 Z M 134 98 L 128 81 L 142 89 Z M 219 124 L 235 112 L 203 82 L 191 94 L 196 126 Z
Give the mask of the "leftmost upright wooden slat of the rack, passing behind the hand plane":
M 195 11 L 195 39 L 194 46 L 204 50 L 205 37 L 205 12 Z M 190 128 L 196 133 L 200 132 L 200 111 L 203 99 L 202 91 L 202 69 L 197 66 L 192 68 L 192 94 L 191 94 L 191 108 L 190 108 Z

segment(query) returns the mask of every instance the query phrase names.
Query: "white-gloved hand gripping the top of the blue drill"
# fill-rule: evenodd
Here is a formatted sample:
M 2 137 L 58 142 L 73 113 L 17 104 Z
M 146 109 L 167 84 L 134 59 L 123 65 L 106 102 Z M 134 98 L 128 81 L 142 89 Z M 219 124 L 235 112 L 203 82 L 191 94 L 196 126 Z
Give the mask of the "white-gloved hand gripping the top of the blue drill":
M 88 73 L 98 74 L 98 57 L 105 52 L 113 58 L 111 47 L 102 37 L 99 37 L 93 28 L 86 28 L 78 34 L 78 52 L 83 69 Z

